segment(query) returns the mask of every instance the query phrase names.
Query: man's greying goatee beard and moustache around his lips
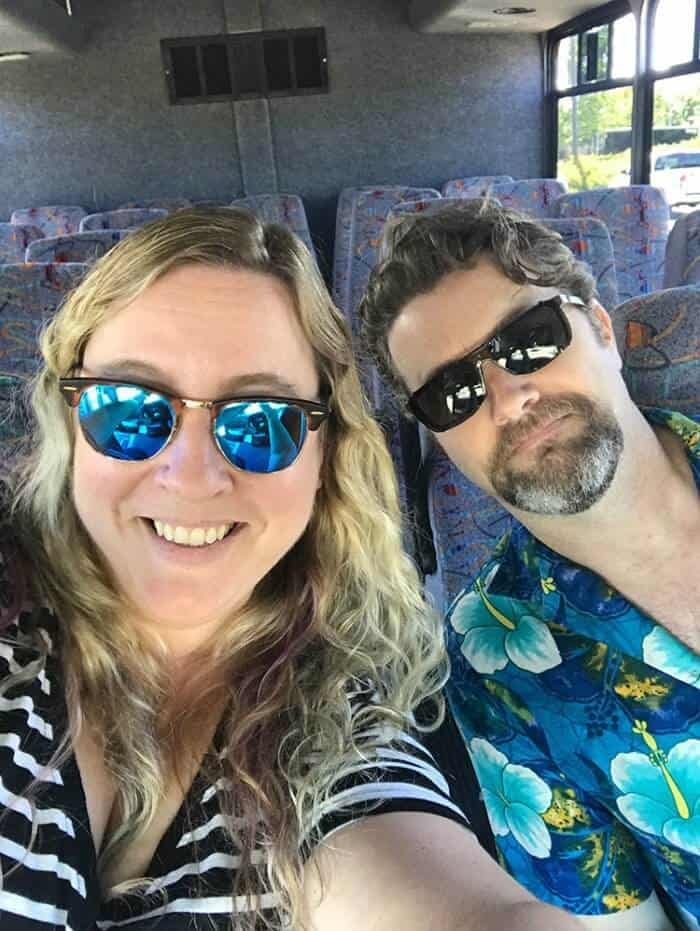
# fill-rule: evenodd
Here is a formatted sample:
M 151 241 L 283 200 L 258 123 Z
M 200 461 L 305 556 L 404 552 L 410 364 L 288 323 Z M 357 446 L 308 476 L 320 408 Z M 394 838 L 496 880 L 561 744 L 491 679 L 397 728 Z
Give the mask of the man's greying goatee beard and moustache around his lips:
M 541 440 L 522 469 L 511 461 L 520 442 L 535 430 L 567 415 L 581 420 L 566 439 Z M 566 429 L 566 428 L 564 428 Z M 532 412 L 504 427 L 489 461 L 496 493 L 534 514 L 580 514 L 610 487 L 624 448 L 622 430 L 611 411 L 580 394 L 544 398 Z

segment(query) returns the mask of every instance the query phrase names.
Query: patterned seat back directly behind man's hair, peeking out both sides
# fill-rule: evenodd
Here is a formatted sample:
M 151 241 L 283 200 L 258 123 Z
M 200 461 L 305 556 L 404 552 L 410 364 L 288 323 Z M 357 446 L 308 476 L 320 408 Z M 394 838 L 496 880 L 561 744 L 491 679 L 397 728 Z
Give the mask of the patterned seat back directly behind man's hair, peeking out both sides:
M 416 200 L 397 204 L 391 216 L 406 213 L 421 213 L 440 210 L 446 204 L 460 203 L 463 197 L 443 197 L 441 200 Z M 617 280 L 613 247 L 605 224 L 594 217 L 573 217 L 567 220 L 543 219 L 542 222 L 556 230 L 577 259 L 585 262 L 596 279 L 600 302 L 606 308 L 616 307 Z

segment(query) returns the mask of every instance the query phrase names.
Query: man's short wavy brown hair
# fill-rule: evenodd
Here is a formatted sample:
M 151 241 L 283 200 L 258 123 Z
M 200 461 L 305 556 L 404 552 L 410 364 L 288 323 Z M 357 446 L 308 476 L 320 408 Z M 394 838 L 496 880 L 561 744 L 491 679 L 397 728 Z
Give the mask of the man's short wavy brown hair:
M 409 301 L 432 291 L 451 272 L 473 268 L 483 256 L 517 284 L 560 288 L 587 306 L 596 297 L 593 276 L 559 233 L 493 197 L 438 200 L 425 211 L 398 216 L 384 229 L 380 261 L 359 313 L 364 351 L 401 405 L 408 391 L 389 352 L 392 324 Z M 589 314 L 589 319 L 595 326 L 596 318 Z

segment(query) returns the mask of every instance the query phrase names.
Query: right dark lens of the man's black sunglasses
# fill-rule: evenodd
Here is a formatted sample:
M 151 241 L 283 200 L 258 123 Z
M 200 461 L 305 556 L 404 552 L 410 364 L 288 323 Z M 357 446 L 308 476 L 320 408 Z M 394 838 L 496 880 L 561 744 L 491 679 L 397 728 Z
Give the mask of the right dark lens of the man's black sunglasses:
M 543 303 L 504 327 L 499 340 L 498 360 L 513 375 L 529 375 L 566 349 L 571 332 L 558 306 Z

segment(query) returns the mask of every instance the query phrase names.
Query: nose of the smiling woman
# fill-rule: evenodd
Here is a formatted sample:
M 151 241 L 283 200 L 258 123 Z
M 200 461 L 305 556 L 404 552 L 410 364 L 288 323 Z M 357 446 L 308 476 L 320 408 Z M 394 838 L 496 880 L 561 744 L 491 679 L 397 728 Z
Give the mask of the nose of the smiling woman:
M 182 498 L 210 498 L 231 488 L 234 473 L 214 442 L 208 410 L 185 408 L 176 435 L 156 462 L 158 481 Z

